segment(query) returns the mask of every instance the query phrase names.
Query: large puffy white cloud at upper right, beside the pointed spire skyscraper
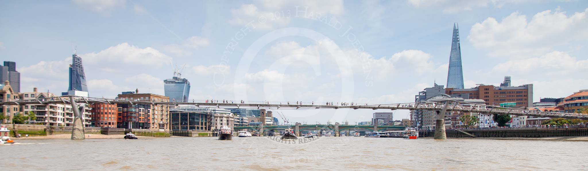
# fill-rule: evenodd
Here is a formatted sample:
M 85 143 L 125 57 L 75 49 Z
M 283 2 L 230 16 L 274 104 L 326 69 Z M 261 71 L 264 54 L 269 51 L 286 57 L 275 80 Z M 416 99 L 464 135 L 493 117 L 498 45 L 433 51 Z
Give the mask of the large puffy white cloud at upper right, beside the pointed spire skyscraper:
M 498 22 L 487 18 L 472 26 L 467 36 L 474 47 L 489 51 L 489 56 L 539 56 L 557 45 L 588 39 L 588 8 L 583 12 L 543 11 L 527 21 L 514 12 Z

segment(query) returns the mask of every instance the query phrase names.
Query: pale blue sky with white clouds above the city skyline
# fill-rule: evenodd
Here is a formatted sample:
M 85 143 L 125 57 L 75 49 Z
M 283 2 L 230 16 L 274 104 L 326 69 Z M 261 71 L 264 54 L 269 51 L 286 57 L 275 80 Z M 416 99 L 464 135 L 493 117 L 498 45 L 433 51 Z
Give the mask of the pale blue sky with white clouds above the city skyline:
M 163 95 L 178 69 L 195 100 L 393 104 L 446 85 L 455 22 L 466 88 L 511 76 L 534 84 L 533 101 L 588 89 L 588 1 L 1 1 L 0 57 L 16 61 L 21 92 L 65 92 L 75 49 L 91 97 Z

